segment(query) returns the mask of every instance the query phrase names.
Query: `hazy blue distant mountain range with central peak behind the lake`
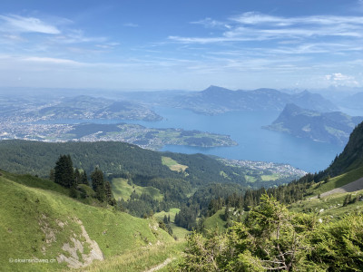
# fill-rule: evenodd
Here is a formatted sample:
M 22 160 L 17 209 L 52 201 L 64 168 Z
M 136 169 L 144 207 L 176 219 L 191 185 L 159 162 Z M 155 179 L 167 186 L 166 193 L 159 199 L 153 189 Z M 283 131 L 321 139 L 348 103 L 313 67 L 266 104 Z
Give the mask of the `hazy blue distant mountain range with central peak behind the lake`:
M 231 91 L 211 86 L 201 92 L 182 93 L 169 97 L 167 104 L 203 114 L 233 111 L 282 111 L 287 103 L 318 111 L 338 111 L 338 107 L 320 94 L 308 91 L 289 94 L 274 89 Z

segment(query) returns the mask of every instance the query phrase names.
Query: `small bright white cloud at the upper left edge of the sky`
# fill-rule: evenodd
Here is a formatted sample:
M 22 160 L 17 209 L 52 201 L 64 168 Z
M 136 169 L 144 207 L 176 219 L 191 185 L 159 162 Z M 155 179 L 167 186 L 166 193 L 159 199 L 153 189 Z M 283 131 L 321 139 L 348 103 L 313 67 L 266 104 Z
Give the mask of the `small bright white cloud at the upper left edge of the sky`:
M 3 24 L 0 24 L 0 30 L 3 32 L 19 33 L 42 33 L 42 34 L 60 34 L 61 31 L 52 24 L 44 23 L 42 20 L 34 17 L 23 17 L 20 15 L 0 15 Z

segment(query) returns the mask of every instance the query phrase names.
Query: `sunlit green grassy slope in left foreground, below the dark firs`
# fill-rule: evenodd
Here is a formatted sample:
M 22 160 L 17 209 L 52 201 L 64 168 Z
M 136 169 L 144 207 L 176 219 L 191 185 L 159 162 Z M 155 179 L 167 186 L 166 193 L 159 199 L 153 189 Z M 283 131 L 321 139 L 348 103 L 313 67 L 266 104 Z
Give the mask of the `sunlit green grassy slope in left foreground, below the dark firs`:
M 149 243 L 172 243 L 161 228 L 154 230 L 152 219 L 136 219 L 113 209 L 84 205 L 54 190 L 35 189 L 20 183 L 41 183 L 29 176 L 5 174 L 0 177 L 0 267 L 6 270 L 41 271 L 65 268 L 65 264 L 15 264 L 9 258 L 53 259 L 64 253 L 64 243 L 81 234 L 75 219 L 80 219 L 91 239 L 95 240 L 106 260 Z M 29 179 L 27 179 L 29 178 Z M 47 181 L 44 181 L 47 182 Z M 51 184 L 46 185 L 51 186 Z M 58 223 L 64 223 L 61 227 Z M 42 228 L 46 229 L 45 232 Z M 53 235 L 52 235 L 53 233 Z M 46 240 L 51 242 L 47 243 Z M 11 246 L 10 246 L 11 245 Z M 43 253 L 45 248 L 45 252 Z M 66 254 L 64 254 L 66 255 Z

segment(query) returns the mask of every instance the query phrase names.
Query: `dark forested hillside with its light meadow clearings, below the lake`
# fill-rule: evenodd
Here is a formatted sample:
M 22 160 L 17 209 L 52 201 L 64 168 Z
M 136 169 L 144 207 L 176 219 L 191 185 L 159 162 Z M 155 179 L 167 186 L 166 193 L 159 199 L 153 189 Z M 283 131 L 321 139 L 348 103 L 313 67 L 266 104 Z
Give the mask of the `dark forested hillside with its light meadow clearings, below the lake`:
M 137 217 L 162 209 L 180 209 L 188 201 L 198 206 L 197 212 L 206 209 L 213 196 L 205 189 L 217 183 L 221 188 L 219 196 L 227 197 L 233 191 L 241 193 L 250 188 L 270 187 L 304 174 L 280 165 L 275 169 L 271 169 L 270 164 L 260 168 L 235 166 L 202 154 L 148 151 L 114 141 L 0 141 L 0 151 L 3 170 L 43 178 L 51 176 L 55 161 L 64 154 L 71 157 L 75 169 L 88 176 L 97 167 L 111 183 L 115 199 Z M 193 197 L 200 190 L 204 193 Z M 190 228 L 196 223 L 195 219 L 191 221 Z

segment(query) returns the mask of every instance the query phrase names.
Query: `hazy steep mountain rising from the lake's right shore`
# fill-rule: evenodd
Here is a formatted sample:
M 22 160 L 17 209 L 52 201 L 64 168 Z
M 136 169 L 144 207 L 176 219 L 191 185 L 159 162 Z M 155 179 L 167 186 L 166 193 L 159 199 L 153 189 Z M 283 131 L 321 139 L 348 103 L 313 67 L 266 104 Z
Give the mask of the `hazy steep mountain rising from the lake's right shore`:
M 363 117 L 348 116 L 343 112 L 317 112 L 289 103 L 272 124 L 263 128 L 287 132 L 295 137 L 333 144 L 346 144 L 349 134 L 363 121 Z

